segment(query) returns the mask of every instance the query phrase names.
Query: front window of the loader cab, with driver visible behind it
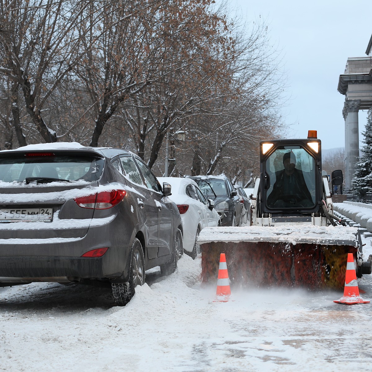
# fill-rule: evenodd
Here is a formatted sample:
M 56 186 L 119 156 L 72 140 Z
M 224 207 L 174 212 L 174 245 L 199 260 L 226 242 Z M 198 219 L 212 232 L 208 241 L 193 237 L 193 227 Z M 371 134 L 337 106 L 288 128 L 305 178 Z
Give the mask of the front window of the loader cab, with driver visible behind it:
M 315 159 L 306 150 L 279 148 L 267 158 L 265 168 L 268 208 L 314 208 Z

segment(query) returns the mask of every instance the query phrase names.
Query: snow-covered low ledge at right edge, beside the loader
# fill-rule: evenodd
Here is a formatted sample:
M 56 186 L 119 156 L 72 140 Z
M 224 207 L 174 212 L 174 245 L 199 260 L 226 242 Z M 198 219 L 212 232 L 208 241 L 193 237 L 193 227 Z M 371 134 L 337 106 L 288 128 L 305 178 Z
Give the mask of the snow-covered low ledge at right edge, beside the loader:
M 372 205 L 345 201 L 335 203 L 333 209 L 372 232 Z

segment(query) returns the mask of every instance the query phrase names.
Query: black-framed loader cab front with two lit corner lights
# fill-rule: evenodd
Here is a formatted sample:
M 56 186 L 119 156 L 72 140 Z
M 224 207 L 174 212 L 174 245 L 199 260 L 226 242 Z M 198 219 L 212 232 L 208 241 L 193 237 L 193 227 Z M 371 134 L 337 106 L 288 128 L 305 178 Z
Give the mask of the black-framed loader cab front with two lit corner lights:
M 260 213 L 311 216 L 320 212 L 320 140 L 261 141 L 260 173 Z

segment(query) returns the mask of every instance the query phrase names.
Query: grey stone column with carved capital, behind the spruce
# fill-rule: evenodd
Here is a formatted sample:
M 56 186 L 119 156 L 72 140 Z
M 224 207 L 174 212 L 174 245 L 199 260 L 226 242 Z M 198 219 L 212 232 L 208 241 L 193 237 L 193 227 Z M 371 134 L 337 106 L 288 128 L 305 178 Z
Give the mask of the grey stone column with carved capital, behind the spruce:
M 358 111 L 360 100 L 346 100 L 342 115 L 345 119 L 345 192 L 352 187 L 352 179 L 355 173 L 355 163 L 359 156 L 359 123 Z

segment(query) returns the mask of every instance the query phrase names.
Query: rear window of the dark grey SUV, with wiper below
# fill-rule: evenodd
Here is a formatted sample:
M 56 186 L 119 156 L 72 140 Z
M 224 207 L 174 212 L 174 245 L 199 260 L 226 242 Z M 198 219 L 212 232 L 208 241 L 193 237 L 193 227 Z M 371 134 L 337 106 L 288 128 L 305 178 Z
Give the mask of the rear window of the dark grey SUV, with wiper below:
M 102 175 L 99 157 L 61 155 L 20 155 L 0 158 L 0 181 L 25 182 L 29 177 L 93 182 Z

